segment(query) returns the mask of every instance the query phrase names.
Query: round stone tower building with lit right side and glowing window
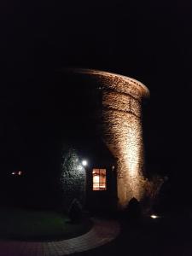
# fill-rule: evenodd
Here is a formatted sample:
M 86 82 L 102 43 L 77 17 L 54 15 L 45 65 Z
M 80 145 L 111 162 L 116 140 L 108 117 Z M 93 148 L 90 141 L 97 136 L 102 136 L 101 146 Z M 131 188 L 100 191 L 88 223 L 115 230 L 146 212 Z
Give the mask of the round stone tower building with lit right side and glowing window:
M 124 208 L 132 197 L 140 201 L 145 190 L 142 106 L 148 88 L 136 79 L 91 69 L 65 69 L 58 80 L 75 95 L 76 110 L 70 115 L 77 118 L 73 134 L 81 131 L 80 146 L 76 143 L 79 163 L 87 160 L 84 175 L 80 175 L 86 205 L 114 209 Z M 85 96 L 79 100 L 82 88 Z M 89 108 L 86 117 L 79 108 Z

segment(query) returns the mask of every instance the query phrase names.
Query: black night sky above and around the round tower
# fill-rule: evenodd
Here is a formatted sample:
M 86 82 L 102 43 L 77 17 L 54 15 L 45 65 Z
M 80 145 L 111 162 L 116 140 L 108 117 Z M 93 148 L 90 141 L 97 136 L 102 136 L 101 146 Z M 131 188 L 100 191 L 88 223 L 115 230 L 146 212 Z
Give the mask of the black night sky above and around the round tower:
M 50 81 L 61 67 L 89 67 L 148 86 L 148 172 L 192 187 L 191 9 L 191 1 L 3 1 L 1 172 L 25 168 L 29 161 L 35 162 L 32 170 L 37 163 L 43 169 L 56 154 L 43 154 L 44 145 L 54 148 L 59 140 L 57 100 L 67 100 L 67 88 L 58 91 Z

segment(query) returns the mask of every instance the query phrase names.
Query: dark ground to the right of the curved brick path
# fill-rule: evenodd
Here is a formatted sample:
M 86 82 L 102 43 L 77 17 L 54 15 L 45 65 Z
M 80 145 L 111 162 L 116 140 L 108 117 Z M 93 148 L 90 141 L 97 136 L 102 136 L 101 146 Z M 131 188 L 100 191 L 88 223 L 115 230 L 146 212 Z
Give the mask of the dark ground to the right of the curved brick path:
M 78 255 L 191 256 L 192 211 L 169 212 L 156 219 L 123 220 L 116 240 Z

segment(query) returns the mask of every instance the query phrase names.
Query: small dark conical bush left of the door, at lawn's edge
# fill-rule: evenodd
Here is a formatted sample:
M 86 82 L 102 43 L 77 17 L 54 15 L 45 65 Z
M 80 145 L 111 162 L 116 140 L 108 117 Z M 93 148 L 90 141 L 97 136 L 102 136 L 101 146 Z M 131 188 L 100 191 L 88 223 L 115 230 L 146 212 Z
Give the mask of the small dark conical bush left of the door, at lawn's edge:
M 80 202 L 75 198 L 73 199 L 69 209 L 68 217 L 71 219 L 72 223 L 79 223 L 83 217 L 83 211 Z

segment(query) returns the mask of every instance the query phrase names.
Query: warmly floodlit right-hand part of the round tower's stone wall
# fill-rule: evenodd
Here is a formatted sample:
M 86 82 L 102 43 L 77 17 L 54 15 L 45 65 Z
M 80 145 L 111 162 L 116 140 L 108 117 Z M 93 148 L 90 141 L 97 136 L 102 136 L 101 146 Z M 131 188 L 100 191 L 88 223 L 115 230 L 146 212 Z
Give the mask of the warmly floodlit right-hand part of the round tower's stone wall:
M 142 100 L 148 97 L 145 85 L 135 79 L 95 70 L 75 70 L 94 80 L 101 91 L 102 111 L 97 125 L 102 139 L 117 159 L 119 207 L 132 197 L 143 198 Z M 91 84 L 90 84 L 91 86 Z

